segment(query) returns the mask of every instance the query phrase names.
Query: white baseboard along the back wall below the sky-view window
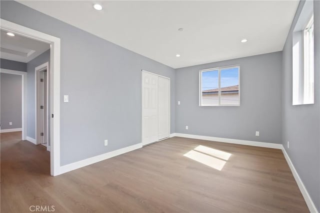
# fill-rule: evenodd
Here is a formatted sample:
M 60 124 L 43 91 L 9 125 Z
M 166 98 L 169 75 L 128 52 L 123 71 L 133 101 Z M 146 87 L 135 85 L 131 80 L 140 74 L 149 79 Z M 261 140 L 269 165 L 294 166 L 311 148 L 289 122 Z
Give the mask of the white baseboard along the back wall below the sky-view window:
M 282 149 L 281 144 L 273 144 L 273 143 L 265 143 L 265 142 L 257 142 L 257 141 L 246 141 L 246 140 L 238 140 L 238 139 L 230 139 L 230 138 L 218 138 L 218 137 L 210 137 L 210 136 L 201 136 L 201 135 L 189 135 L 183 133 L 172 133 L 172 137 L 182 137 L 182 138 L 192 138 L 192 139 L 200 139 L 206 141 L 216 141 L 223 142 L 229 144 L 241 144 L 255 147 L 265 147 L 265 148 L 273 148 L 273 149 Z

